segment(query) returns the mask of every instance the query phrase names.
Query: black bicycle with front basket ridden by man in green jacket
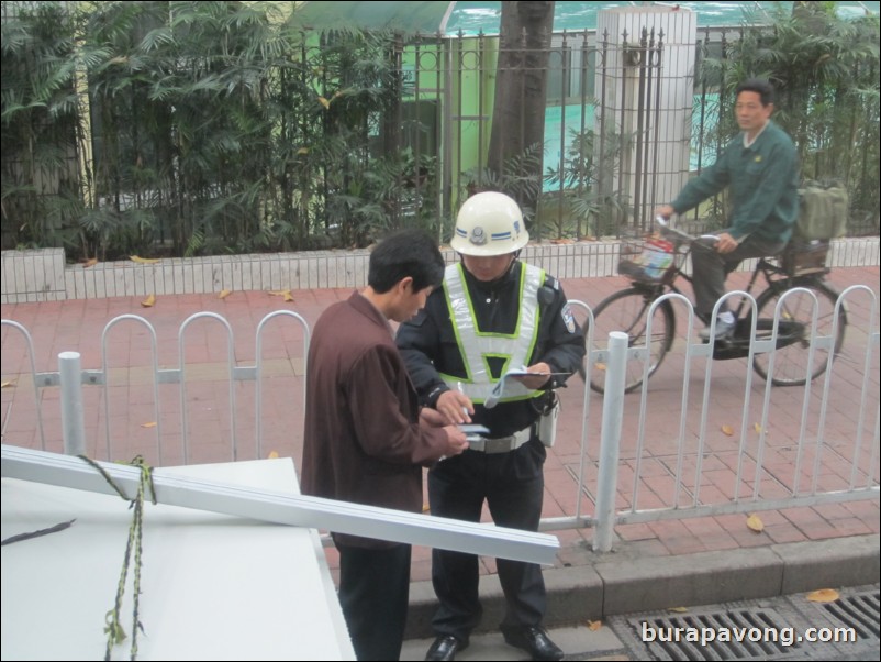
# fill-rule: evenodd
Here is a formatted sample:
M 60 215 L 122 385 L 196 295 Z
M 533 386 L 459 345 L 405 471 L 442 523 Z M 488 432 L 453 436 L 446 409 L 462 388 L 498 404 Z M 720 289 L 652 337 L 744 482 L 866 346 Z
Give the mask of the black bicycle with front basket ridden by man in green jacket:
M 660 225 L 660 241 L 655 239 L 640 239 L 635 242 L 625 242 L 622 245 L 622 256 L 618 273 L 632 279 L 627 289 L 616 291 L 603 299 L 593 310 L 595 349 L 605 349 L 605 342 L 611 331 L 623 331 L 629 336 L 628 346 L 645 346 L 650 357 L 648 377 L 654 375 L 665 356 L 673 346 L 676 338 L 676 311 L 670 299 L 661 301 L 654 311 L 651 322 L 651 338 L 646 338 L 648 330 L 648 311 L 657 299 L 668 293 L 682 295 L 676 282 L 684 278 L 689 283 L 692 277 L 684 273 L 685 260 L 698 239 L 669 227 L 663 219 L 656 219 Z M 707 238 L 711 235 L 704 235 Z M 663 243 L 667 243 L 665 246 Z M 702 244 L 696 244 L 701 246 Z M 814 349 L 814 363 L 811 366 L 811 379 L 817 378 L 826 371 L 829 345 L 834 355 L 837 355 L 844 344 L 847 328 L 847 312 L 844 306 L 838 313 L 838 323 L 835 327 L 835 306 L 838 293 L 824 280 L 829 269 L 825 266 L 828 242 L 815 242 L 813 251 L 799 252 L 794 242 L 776 257 L 758 258 L 752 276 L 746 288 L 751 296 L 759 276 L 762 276 L 766 288 L 756 297 L 756 336 L 757 340 L 771 341 L 774 331 L 774 310 L 778 300 L 784 293 L 793 288 L 803 288 L 808 291 L 795 291 L 787 296 L 779 316 L 777 329 L 776 357 L 771 384 L 776 386 L 801 386 L 807 379 L 805 360 L 812 335 L 814 338 L 830 336 L 835 331 L 834 343 L 816 343 Z M 666 253 L 662 263 L 657 261 L 628 260 L 628 255 L 643 254 L 653 251 Z M 649 255 L 658 257 L 658 255 Z M 654 263 L 654 264 L 653 264 Z M 814 297 L 818 306 L 817 328 L 814 332 L 811 324 L 814 308 Z M 684 295 L 683 295 L 684 296 Z M 714 360 L 744 358 L 749 355 L 750 335 L 752 329 L 752 307 L 748 299 L 743 297 L 733 310 L 737 318 L 734 333 L 724 340 L 717 340 L 713 345 Z M 707 321 L 707 320 L 704 320 Z M 769 346 L 768 343 L 767 346 Z M 754 353 L 752 368 L 763 379 L 768 379 L 770 352 Z M 603 393 L 604 365 L 595 363 L 590 371 L 590 387 Z M 625 393 L 636 390 L 643 385 L 644 369 L 642 362 L 628 362 L 625 382 Z

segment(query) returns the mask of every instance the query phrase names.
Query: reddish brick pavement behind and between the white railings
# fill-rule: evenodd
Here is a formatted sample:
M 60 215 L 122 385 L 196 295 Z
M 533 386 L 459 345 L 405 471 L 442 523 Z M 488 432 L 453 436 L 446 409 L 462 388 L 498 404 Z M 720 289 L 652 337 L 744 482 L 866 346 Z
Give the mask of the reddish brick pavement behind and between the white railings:
M 743 287 L 746 274 L 732 276 L 732 285 Z M 836 268 L 830 283 L 839 290 L 850 285 L 868 285 L 878 296 L 879 268 Z M 583 278 L 564 280 L 568 296 L 591 305 L 625 286 L 620 277 Z M 211 311 L 222 316 L 230 324 L 233 343 L 227 331 L 215 319 L 200 319 L 188 326 L 182 346 L 186 372 L 186 412 L 191 463 L 222 462 L 232 459 L 231 441 L 236 438 L 236 456 L 253 459 L 257 454 L 255 427 L 257 407 L 254 382 L 236 380 L 235 416 L 228 406 L 230 373 L 227 362 L 232 346 L 236 366 L 254 364 L 255 331 L 264 317 L 279 309 L 294 310 L 310 323 L 314 323 L 321 311 L 331 302 L 346 298 L 349 289 L 294 290 L 293 301 L 264 291 L 237 291 L 225 299 L 216 295 L 180 295 L 158 297 L 155 306 L 143 308 L 142 297 L 67 300 L 43 304 L 3 305 L 3 319 L 11 319 L 26 327 L 34 341 L 34 362 L 37 372 L 57 371 L 57 354 L 62 351 L 78 351 L 82 355 L 85 369 L 98 369 L 102 365 L 101 333 L 105 324 L 119 315 L 137 315 L 146 319 L 156 330 L 157 363 L 160 368 L 178 366 L 180 346 L 178 333 L 181 323 L 199 311 Z M 862 387 L 861 357 L 851 347 L 865 339 L 871 315 L 869 297 L 859 294 L 849 299 L 850 328 L 843 360 L 836 362 L 836 377 L 830 405 L 826 412 L 824 446 L 821 472 L 817 476 L 819 489 L 840 489 L 849 479 L 848 461 L 854 453 L 855 412 L 860 404 Z M 878 311 L 874 311 L 874 329 L 878 329 Z M 681 329 L 680 329 L 681 331 Z M 272 319 L 263 333 L 264 377 L 263 401 L 259 415 L 263 421 L 263 454 L 276 452 L 299 460 L 302 428 L 302 374 L 303 333 L 290 318 Z M 35 420 L 33 390 L 30 382 L 29 352 L 21 334 L 4 326 L 2 329 L 2 380 L 11 384 L 2 388 L 3 441 L 15 445 L 38 448 L 40 437 Z M 107 366 L 109 374 L 108 398 L 110 410 L 111 457 L 127 460 L 134 454 L 144 454 L 148 462 L 156 463 L 157 428 L 153 400 L 153 353 L 147 329 L 132 321 L 123 321 L 108 332 Z M 876 349 L 869 371 L 869 406 L 878 409 L 879 363 Z M 839 367 L 840 366 L 840 367 Z M 703 388 L 703 365 L 692 366 L 692 397 L 687 404 L 689 412 L 685 429 L 689 439 L 696 440 L 700 421 L 695 417 L 702 411 L 698 399 Z M 748 470 L 755 467 L 755 445 L 746 457 L 740 457 L 735 442 L 720 432 L 723 426 L 737 427 L 744 400 L 746 361 L 715 362 L 713 388 L 710 394 L 707 423 L 704 428 L 703 446 L 689 448 L 685 454 L 683 484 L 680 504 L 693 498 L 700 489 L 702 503 L 729 499 L 734 489 L 733 476 L 737 464 L 744 460 Z M 840 373 L 840 376 L 839 376 Z M 646 449 L 643 460 L 643 478 L 636 493 L 640 508 L 663 507 L 672 504 L 676 484 L 671 478 L 671 463 L 676 456 L 676 434 L 682 420 L 681 367 L 672 358 L 665 363 L 653 377 L 649 388 L 646 427 Z M 803 406 L 800 389 L 772 389 L 773 418 L 769 422 L 768 451 L 763 457 L 767 481 L 762 489 L 779 490 L 785 495 L 785 486 L 794 479 L 791 474 L 794 453 L 793 440 L 798 438 L 798 424 Z M 802 391 L 803 393 L 803 391 Z M 163 463 L 178 464 L 183 459 L 183 434 L 179 386 L 159 386 L 163 428 Z M 587 462 L 586 493 L 580 497 L 576 489 L 576 476 L 580 466 L 579 442 L 581 437 L 580 411 L 583 385 L 573 380 L 562 391 L 564 418 L 559 428 L 559 442 L 550 451 L 546 465 L 545 517 L 572 515 L 576 501 L 581 498 L 582 512 L 593 510 L 595 463 Z M 751 402 L 761 405 L 765 383 L 755 377 Z M 810 426 L 817 423 L 816 394 L 810 401 Z M 98 459 L 107 455 L 104 432 L 104 402 L 102 389 L 89 386 L 83 391 L 86 409 L 87 451 Z M 638 426 L 638 395 L 627 396 L 623 440 L 622 472 L 618 492 L 620 508 L 629 506 L 628 481 L 632 481 L 636 461 L 635 440 Z M 62 450 L 60 410 L 57 388 L 41 390 L 41 408 L 44 420 L 46 448 Z M 633 409 L 629 409 L 633 407 Z M 588 418 L 588 457 L 596 457 L 599 449 L 600 413 L 602 398 L 591 397 Z M 748 413 L 747 416 L 751 416 Z M 871 453 L 874 419 L 869 417 L 868 430 L 863 429 L 859 466 L 861 476 L 878 484 L 878 452 Z M 808 427 L 808 437 L 810 430 Z M 816 434 L 816 433 L 814 433 Z M 696 441 L 694 442 L 696 444 Z M 750 440 L 754 444 L 755 440 Z M 702 452 L 699 452 L 701 451 Z M 827 450 L 828 449 L 828 450 Z M 647 452 L 646 452 L 647 451 Z M 812 449 L 807 453 L 812 466 Z M 702 481 L 700 486 L 688 485 L 688 476 L 694 475 L 694 464 L 702 456 Z M 872 464 L 873 463 L 873 464 Z M 751 494 L 754 483 L 747 477 L 737 486 L 740 498 Z M 802 486 L 810 486 L 813 475 L 802 476 Z M 768 496 L 766 494 L 765 496 Z M 771 494 L 771 496 L 774 496 Z M 765 531 L 755 533 L 746 528 L 743 515 L 724 515 L 685 520 L 667 520 L 649 523 L 620 526 L 616 530 L 623 544 L 633 553 L 643 556 L 670 556 L 701 551 L 750 549 L 779 542 L 801 542 L 828 538 L 859 536 L 879 532 L 879 503 L 860 500 L 813 508 L 782 508 L 761 515 Z M 558 567 L 591 563 L 595 558 L 590 551 L 590 529 L 556 532 L 560 539 Z M 335 567 L 334 551 L 327 550 L 332 567 Z M 494 561 L 484 559 L 482 571 L 494 572 Z M 414 550 L 413 578 L 427 578 L 430 574 L 428 550 Z

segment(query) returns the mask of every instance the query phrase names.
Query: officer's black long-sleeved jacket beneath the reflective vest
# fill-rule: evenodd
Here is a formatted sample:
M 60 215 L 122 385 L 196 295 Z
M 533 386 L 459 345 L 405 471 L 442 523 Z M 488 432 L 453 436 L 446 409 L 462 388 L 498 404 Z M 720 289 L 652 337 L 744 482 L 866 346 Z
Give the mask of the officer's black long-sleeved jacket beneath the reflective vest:
M 523 263 L 516 261 L 504 277 L 491 284 L 481 283 L 464 269 L 480 331 L 512 333 L 515 330 L 522 268 Z M 575 374 L 584 357 L 584 334 L 572 319 L 559 282 L 546 277 L 544 286 L 539 288 L 538 299 L 538 338 L 527 365 L 545 362 L 555 373 Z M 397 343 L 424 405 L 434 407 L 440 394 L 449 390 L 438 373 L 466 378 L 465 364 L 456 343 L 443 288 L 438 287 L 432 293 L 425 308 L 415 318 L 401 324 Z M 499 372 L 501 371 L 494 373 L 495 377 Z M 566 377 L 554 377 L 546 388 L 561 386 L 565 380 Z M 537 398 L 499 402 L 492 409 L 476 405 L 475 416 L 471 418 L 473 422 L 490 429 L 489 437 L 506 437 L 535 422 L 540 415 L 543 400 L 544 398 Z

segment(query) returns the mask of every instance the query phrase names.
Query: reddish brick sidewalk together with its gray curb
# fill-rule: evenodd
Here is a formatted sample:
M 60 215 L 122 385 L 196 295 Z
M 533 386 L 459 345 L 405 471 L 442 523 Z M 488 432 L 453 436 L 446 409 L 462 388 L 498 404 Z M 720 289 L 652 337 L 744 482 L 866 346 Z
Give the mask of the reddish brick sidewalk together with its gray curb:
M 741 287 L 748 274 L 733 274 L 731 287 Z M 850 285 L 867 285 L 879 293 L 879 267 L 836 268 L 829 276 L 838 290 Z M 564 280 L 570 299 L 596 305 L 603 297 L 626 286 L 620 277 L 578 278 Z M 233 456 L 248 460 L 258 455 L 255 428 L 260 420 L 263 444 L 260 456 L 277 453 L 292 456 L 299 463 L 302 435 L 302 375 L 303 333 L 290 318 L 274 319 L 261 334 L 263 382 L 261 402 L 256 405 L 255 384 L 236 380 L 233 391 L 236 406 L 228 405 L 230 366 L 253 365 L 256 355 L 255 332 L 260 320 L 279 309 L 295 311 L 314 324 L 324 308 L 349 296 L 349 289 L 294 290 L 292 301 L 266 291 L 236 291 L 221 299 L 216 295 L 160 296 L 154 306 L 142 307 L 143 297 L 67 300 L 42 304 L 2 306 L 2 318 L 26 327 L 34 342 L 33 360 L 36 371 L 57 371 L 57 354 L 78 351 L 83 369 L 102 367 L 101 334 L 105 324 L 120 315 L 137 315 L 146 319 L 156 331 L 157 363 L 160 368 L 178 367 L 185 357 L 186 399 L 181 405 L 179 386 L 159 386 L 161 405 L 163 464 L 183 461 L 183 439 L 189 440 L 190 463 L 226 462 Z M 216 318 L 203 318 L 179 333 L 181 324 L 196 312 L 210 311 L 228 322 L 230 331 Z M 874 315 L 878 329 L 878 309 L 872 309 L 867 297 L 850 302 L 847 342 L 857 342 L 860 331 Z M 233 341 L 230 343 L 228 333 Z M 181 343 L 182 339 L 182 343 Z M 34 402 L 30 377 L 30 352 L 21 334 L 9 326 L 2 328 L 2 388 L 0 407 L 3 416 L 3 442 L 40 448 L 35 426 L 37 405 Z M 103 389 L 86 387 L 83 405 L 89 445 L 87 452 L 99 460 L 129 460 L 135 454 L 145 455 L 147 462 L 159 464 L 154 399 L 150 334 L 140 323 L 125 320 L 107 333 L 107 373 L 110 386 L 108 398 L 110 419 L 104 420 Z M 870 366 L 872 400 L 878 402 L 878 352 Z M 745 361 L 717 362 L 714 369 L 714 391 L 711 402 L 714 416 L 707 439 L 706 464 L 716 474 L 707 473 L 702 495 L 724 492 L 731 481 L 732 463 L 736 460 L 736 445 L 718 432 L 734 418 L 725 418 L 729 402 L 743 399 L 744 375 L 749 371 Z M 835 488 L 843 468 L 840 459 L 847 457 L 854 445 L 852 422 L 859 408 L 862 369 L 859 356 L 848 355 L 847 345 L 841 366 L 851 371 L 836 382 L 836 399 L 826 418 L 826 433 L 834 446 L 821 463 L 821 488 Z M 654 431 L 672 431 L 679 426 L 679 412 L 673 405 L 680 397 L 677 364 L 665 363 L 650 383 L 650 410 L 647 418 Z M 7 386 L 5 383 L 9 383 Z M 550 450 L 545 468 L 546 518 L 572 515 L 580 503 L 582 512 L 592 512 L 595 483 L 595 463 L 589 462 L 586 493 L 577 493 L 580 462 L 581 399 L 583 384 L 573 380 L 565 389 L 564 419 L 559 426 L 557 445 Z M 763 383 L 756 378 L 754 390 L 761 393 Z M 799 417 L 784 416 L 799 408 L 800 399 L 793 389 L 773 389 L 780 416 L 768 430 L 773 440 L 773 457 L 769 466 L 784 475 L 792 465 L 793 439 L 798 440 Z M 638 396 L 628 401 L 638 402 Z M 602 398 L 591 400 L 589 457 L 596 456 L 599 421 Z M 57 388 L 43 388 L 38 405 L 43 413 L 46 450 L 60 451 L 60 410 Z M 186 417 L 181 409 L 186 408 Z M 636 412 L 625 415 L 623 453 L 633 451 Z M 186 419 L 186 429 L 185 429 Z M 871 419 L 874 421 L 876 419 Z M 872 422 L 872 424 L 874 424 Z M 105 432 L 109 426 L 109 435 Z M 691 429 L 691 423 L 690 423 Z M 878 485 L 878 454 L 873 456 L 865 446 L 871 446 L 871 429 L 863 440 L 863 466 Z M 109 437 L 109 439 L 108 439 Z M 659 507 L 672 499 L 673 488 L 665 473 L 669 457 L 676 449 L 662 440 L 654 441 L 651 462 L 658 475 L 649 482 L 650 498 L 640 507 Z M 873 460 L 870 460 L 873 457 Z M 863 462 L 860 455 L 860 462 Z M 712 464 L 711 464 L 712 463 Z M 862 466 L 862 465 L 861 465 Z M 624 478 L 622 478 L 624 482 Z M 829 487 L 832 485 L 832 487 Z M 724 496 L 724 495 L 722 495 Z M 628 506 L 622 488 L 620 508 Z M 657 499 L 657 505 L 651 499 Z M 550 591 L 549 626 L 584 624 L 587 620 L 637 610 L 720 603 L 731 599 L 773 596 L 808 591 L 818 587 L 871 584 L 879 581 L 879 500 L 867 499 L 841 504 L 816 505 L 803 508 L 783 508 L 760 514 L 765 530 L 760 533 L 745 526 L 745 516 L 668 519 L 650 523 L 624 525 L 616 529 L 620 540 L 609 554 L 591 551 L 592 530 L 570 529 L 553 531 L 560 540 L 560 551 L 554 567 L 546 570 Z M 337 559 L 333 549 L 326 550 L 333 570 Z M 430 621 L 434 609 L 434 595 L 428 582 L 430 550 L 415 548 L 413 553 L 413 589 L 408 636 L 421 639 L 431 636 Z M 493 559 L 481 559 L 481 595 L 484 598 L 482 629 L 493 630 L 501 620 L 501 592 Z M 512 649 L 513 650 L 513 649 Z M 462 659 L 468 659 L 464 655 Z M 473 658 L 472 658 L 473 659 Z M 489 658 L 488 658 L 489 659 Z

